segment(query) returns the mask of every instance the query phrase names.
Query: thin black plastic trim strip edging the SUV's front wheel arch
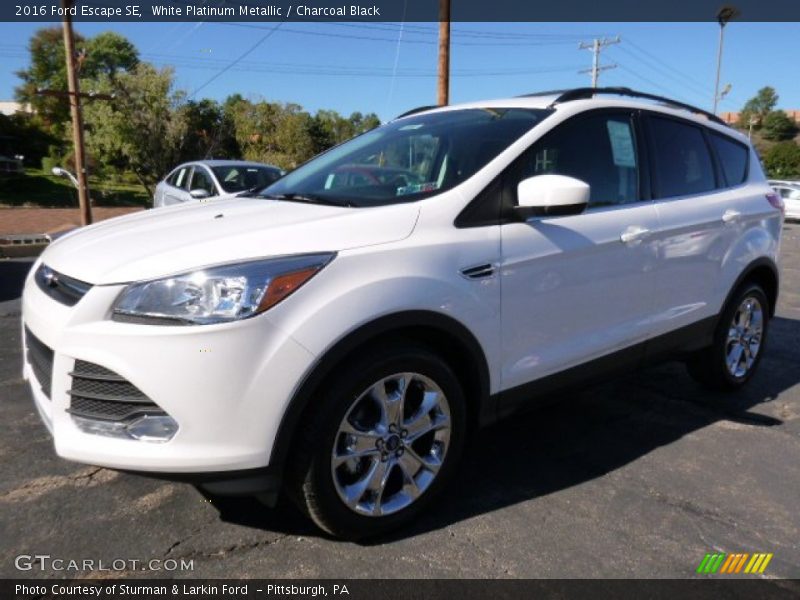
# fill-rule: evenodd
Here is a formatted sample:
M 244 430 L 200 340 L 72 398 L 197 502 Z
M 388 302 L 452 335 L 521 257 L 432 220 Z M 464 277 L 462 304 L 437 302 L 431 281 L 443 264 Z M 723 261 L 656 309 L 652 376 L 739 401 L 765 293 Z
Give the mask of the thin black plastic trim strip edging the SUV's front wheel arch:
M 461 343 L 462 348 L 468 353 L 468 358 L 476 367 L 475 375 L 479 389 L 465 390 L 468 396 L 477 396 L 474 398 L 477 400 L 476 424 L 480 426 L 493 422 L 495 411 L 494 403 L 490 403 L 489 366 L 483 347 L 472 332 L 453 317 L 434 311 L 410 310 L 392 313 L 365 323 L 344 335 L 325 351 L 309 369 L 281 418 L 269 459 L 270 468 L 275 468 L 277 472 L 283 473 L 294 435 L 301 424 L 301 418 L 311 402 L 314 391 L 333 373 L 334 368 L 342 360 L 357 351 L 359 347 L 377 340 L 382 335 L 392 331 L 414 329 L 428 330 L 432 333 L 438 330 Z

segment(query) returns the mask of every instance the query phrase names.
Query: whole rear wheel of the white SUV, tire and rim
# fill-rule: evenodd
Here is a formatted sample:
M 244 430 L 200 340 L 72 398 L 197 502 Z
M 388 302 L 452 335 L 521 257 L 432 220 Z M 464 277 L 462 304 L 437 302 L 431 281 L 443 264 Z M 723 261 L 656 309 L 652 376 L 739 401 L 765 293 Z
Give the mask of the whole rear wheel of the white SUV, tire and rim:
M 769 314 L 769 300 L 761 286 L 745 283 L 723 309 L 711 346 L 687 362 L 689 374 L 709 389 L 741 388 L 761 362 Z

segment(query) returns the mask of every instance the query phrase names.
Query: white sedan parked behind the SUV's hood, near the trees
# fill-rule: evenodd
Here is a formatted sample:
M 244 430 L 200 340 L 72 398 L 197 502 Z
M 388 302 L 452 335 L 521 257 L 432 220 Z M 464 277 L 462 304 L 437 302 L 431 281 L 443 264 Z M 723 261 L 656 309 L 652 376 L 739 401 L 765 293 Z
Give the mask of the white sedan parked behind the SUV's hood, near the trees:
M 232 198 L 242 192 L 265 188 L 283 174 L 279 167 L 241 160 L 184 163 L 156 186 L 153 207 Z

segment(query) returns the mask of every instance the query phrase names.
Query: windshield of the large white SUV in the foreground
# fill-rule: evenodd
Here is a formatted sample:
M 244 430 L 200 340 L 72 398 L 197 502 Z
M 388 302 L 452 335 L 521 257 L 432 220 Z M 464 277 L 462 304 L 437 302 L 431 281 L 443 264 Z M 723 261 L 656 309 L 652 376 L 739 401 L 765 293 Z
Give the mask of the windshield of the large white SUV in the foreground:
M 471 177 L 548 114 L 491 108 L 400 119 L 319 155 L 259 195 L 356 207 L 412 202 Z

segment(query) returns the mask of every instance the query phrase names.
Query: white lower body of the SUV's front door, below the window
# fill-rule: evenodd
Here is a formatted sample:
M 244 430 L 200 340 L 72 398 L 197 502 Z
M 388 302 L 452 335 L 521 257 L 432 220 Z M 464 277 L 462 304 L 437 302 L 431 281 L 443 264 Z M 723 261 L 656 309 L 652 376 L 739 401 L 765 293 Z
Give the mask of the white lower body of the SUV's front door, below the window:
M 503 226 L 503 387 L 644 341 L 656 246 L 650 203 Z

